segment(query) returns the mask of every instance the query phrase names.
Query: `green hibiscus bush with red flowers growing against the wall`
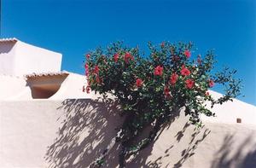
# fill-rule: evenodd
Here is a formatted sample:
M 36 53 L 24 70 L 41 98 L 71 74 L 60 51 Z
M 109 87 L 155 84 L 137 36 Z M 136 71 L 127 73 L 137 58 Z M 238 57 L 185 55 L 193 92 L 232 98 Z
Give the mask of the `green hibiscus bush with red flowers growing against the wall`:
M 139 48 L 124 47 L 118 42 L 85 55 L 84 91 L 112 94 L 122 107 L 120 114 L 125 121 L 113 142 L 122 147 L 120 167 L 125 166 L 126 156 L 147 147 L 162 125 L 171 122 L 181 108 L 191 124 L 200 126 L 201 114 L 214 116 L 207 101 L 213 107 L 240 95 L 241 80 L 234 78 L 236 71 L 224 68 L 213 73 L 212 50 L 191 59 L 193 51 L 192 43 L 148 43 L 145 55 Z M 215 84 L 223 85 L 225 91 L 216 100 L 208 92 Z M 148 136 L 135 141 L 148 127 Z M 109 147 L 96 159 L 96 165 L 102 165 Z

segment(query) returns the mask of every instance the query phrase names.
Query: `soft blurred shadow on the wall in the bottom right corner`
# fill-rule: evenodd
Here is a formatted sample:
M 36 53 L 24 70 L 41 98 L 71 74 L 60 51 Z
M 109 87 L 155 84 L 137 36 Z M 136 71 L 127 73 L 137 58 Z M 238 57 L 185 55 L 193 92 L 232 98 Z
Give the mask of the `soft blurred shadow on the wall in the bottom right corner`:
M 252 142 L 252 136 L 247 136 L 243 142 L 240 142 L 236 149 L 233 148 L 237 142 L 235 136 L 225 136 L 221 148 L 216 153 L 216 158 L 212 162 L 211 168 L 253 168 L 256 167 L 256 143 L 248 145 Z M 254 141 L 255 142 L 255 141 Z M 245 148 L 250 147 L 250 152 L 245 152 Z M 253 148 L 252 148 L 253 147 Z M 235 150 L 234 150 L 235 149 Z M 248 149 L 247 149 L 248 150 Z M 235 151 L 235 152 L 234 152 Z

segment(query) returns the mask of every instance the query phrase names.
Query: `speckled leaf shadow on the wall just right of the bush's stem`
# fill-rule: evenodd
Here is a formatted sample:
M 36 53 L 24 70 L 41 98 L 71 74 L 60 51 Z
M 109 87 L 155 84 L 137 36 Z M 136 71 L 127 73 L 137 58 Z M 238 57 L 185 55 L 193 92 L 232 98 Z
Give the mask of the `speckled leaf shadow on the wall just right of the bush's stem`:
M 145 148 L 141 154 L 137 154 L 135 159 L 132 159 L 131 162 L 128 164 L 128 167 L 152 167 L 152 168 L 160 168 L 160 167 L 174 167 L 179 168 L 183 167 L 183 163 L 187 161 L 191 156 L 195 154 L 195 149 L 200 145 L 201 142 L 205 140 L 205 138 L 210 134 L 210 130 L 207 128 L 201 127 L 200 129 L 195 128 L 194 130 L 190 130 L 194 125 L 189 125 L 189 122 L 183 125 L 183 129 L 177 131 L 177 134 L 173 137 L 175 142 L 169 142 L 171 145 L 170 147 L 165 148 L 164 154 L 158 154 L 157 159 L 147 160 L 148 156 L 152 154 L 152 150 L 154 147 L 154 142 L 158 140 L 156 138 L 153 143 L 149 145 L 148 148 Z M 169 127 L 172 126 L 168 125 L 164 129 L 168 130 Z M 175 130 L 174 130 L 175 131 Z M 167 134 L 170 132 L 165 132 Z M 183 136 L 189 135 L 189 142 L 182 142 Z M 166 141 L 171 140 L 172 137 L 166 139 Z M 180 143 L 180 144 L 179 144 Z M 176 148 L 176 149 L 173 149 Z M 178 148 L 178 149 L 177 149 Z M 172 149 L 174 151 L 172 151 Z M 181 151 L 180 153 L 178 151 Z M 177 160 L 173 159 L 173 154 L 177 156 Z M 146 157 L 145 157 L 146 156 Z

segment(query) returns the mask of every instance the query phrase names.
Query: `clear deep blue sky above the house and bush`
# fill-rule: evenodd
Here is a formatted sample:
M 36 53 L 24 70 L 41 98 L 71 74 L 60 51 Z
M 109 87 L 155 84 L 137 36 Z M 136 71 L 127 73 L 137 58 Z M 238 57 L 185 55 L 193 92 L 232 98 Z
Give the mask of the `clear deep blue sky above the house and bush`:
M 97 46 L 192 41 L 194 55 L 215 49 L 217 68 L 237 69 L 239 99 L 256 105 L 254 0 L 2 0 L 1 32 L 61 52 L 62 69 L 81 74 L 84 53 Z

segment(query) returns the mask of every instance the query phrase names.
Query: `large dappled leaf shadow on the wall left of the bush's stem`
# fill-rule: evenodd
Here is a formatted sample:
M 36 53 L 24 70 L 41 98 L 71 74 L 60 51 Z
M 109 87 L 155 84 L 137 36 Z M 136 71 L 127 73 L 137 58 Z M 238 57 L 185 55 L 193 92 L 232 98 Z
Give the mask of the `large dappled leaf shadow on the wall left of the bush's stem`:
M 117 130 L 113 129 L 121 124 L 117 103 L 111 99 L 67 99 L 58 109 L 65 115 L 45 156 L 49 167 L 89 167 L 115 136 Z

